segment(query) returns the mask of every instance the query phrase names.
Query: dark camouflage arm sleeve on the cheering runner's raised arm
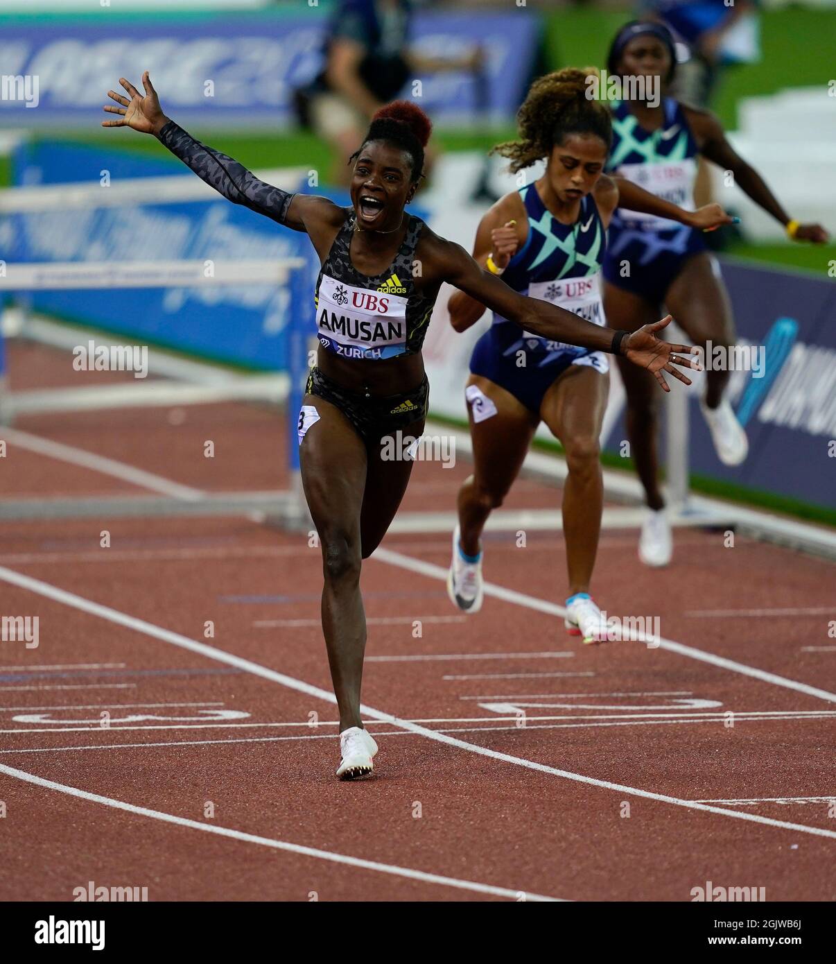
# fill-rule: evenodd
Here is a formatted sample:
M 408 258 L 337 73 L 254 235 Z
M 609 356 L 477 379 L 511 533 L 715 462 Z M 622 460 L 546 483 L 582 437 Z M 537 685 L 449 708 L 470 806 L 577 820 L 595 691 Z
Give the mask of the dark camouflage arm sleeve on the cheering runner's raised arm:
M 220 191 L 228 201 L 244 204 L 284 224 L 293 194 L 259 180 L 243 164 L 233 161 L 220 150 L 200 144 L 173 120 L 166 124 L 159 136 L 160 142 L 172 154 L 216 191 Z

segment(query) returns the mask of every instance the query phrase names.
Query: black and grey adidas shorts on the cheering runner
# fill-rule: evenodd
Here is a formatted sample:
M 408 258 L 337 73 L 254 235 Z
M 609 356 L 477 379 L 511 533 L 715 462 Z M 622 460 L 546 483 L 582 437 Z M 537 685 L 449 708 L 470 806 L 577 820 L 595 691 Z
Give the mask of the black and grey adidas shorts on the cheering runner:
M 319 368 L 311 368 L 305 392 L 324 398 L 335 405 L 352 423 L 354 431 L 366 443 L 377 445 L 383 436 L 402 432 L 421 418 L 427 417 L 430 401 L 430 382 L 424 381 L 411 391 L 400 395 L 372 395 L 343 388 L 324 375 Z M 300 415 L 300 441 L 304 412 Z

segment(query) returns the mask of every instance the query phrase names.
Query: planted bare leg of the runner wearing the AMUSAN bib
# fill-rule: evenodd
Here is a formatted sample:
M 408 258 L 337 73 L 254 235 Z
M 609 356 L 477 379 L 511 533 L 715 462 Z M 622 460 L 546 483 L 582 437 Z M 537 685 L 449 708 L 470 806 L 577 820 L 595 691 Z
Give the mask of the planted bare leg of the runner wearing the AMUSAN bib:
M 366 616 L 360 598 L 360 510 L 366 484 L 366 448 L 339 409 L 305 395 L 320 415 L 300 446 L 305 498 L 323 553 L 322 618 L 340 732 L 362 726 L 360 683 Z

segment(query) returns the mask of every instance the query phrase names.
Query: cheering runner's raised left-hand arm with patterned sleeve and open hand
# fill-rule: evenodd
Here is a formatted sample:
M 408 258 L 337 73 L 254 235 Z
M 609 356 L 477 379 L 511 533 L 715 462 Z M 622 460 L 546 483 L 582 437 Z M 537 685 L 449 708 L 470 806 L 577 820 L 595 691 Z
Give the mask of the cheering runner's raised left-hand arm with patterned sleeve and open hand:
M 144 96 L 124 77 L 119 78 L 119 83 L 130 94 L 130 100 L 108 91 L 108 96 L 121 106 L 108 105 L 104 110 L 120 115 L 121 120 L 103 120 L 103 127 L 133 127 L 141 133 L 153 134 L 164 147 L 168 147 L 172 154 L 228 201 L 243 204 L 287 228 L 311 233 L 310 228 L 319 227 L 317 224 L 311 225 L 311 221 L 331 221 L 342 216 L 337 213 L 341 209 L 326 198 L 283 191 L 259 180 L 243 164 L 222 154 L 220 150 L 201 144 L 163 113 L 147 70 L 143 74 Z

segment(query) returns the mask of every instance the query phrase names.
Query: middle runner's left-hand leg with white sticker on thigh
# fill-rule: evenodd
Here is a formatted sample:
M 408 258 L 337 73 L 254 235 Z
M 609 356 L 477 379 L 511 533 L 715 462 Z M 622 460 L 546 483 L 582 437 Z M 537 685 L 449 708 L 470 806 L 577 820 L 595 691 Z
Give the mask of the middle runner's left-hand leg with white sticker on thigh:
M 467 384 L 481 388 L 497 410 L 476 422 L 469 408 L 474 470 L 458 490 L 458 524 L 461 549 L 477 555 L 484 523 L 508 495 L 539 419 L 509 391 L 481 375 L 471 375 Z

